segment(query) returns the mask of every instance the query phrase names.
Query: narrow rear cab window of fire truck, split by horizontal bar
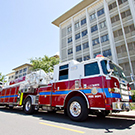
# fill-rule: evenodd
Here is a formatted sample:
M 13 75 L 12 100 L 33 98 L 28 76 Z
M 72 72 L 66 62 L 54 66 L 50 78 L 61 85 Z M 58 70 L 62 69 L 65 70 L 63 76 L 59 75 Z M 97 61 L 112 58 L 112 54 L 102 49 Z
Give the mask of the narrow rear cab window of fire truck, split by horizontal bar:
M 60 66 L 59 68 L 59 80 L 68 79 L 68 64 Z

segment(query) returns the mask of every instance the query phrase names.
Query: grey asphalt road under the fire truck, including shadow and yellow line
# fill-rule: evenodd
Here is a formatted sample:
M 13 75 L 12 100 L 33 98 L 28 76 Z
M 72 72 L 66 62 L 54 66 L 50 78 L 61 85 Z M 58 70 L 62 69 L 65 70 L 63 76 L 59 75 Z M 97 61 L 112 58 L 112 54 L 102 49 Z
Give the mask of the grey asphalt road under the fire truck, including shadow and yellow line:
M 22 110 L 0 107 L 0 135 L 81 134 L 135 135 L 135 119 L 89 116 L 85 122 L 74 122 L 60 112 L 26 115 Z

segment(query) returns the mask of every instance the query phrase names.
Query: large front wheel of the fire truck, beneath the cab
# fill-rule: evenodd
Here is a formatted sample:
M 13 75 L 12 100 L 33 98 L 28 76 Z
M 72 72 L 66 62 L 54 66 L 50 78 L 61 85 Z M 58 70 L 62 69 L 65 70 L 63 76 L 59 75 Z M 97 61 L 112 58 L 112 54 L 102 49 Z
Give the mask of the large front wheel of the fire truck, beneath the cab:
M 73 97 L 67 104 L 67 114 L 73 121 L 84 121 L 88 117 L 88 108 L 82 97 Z

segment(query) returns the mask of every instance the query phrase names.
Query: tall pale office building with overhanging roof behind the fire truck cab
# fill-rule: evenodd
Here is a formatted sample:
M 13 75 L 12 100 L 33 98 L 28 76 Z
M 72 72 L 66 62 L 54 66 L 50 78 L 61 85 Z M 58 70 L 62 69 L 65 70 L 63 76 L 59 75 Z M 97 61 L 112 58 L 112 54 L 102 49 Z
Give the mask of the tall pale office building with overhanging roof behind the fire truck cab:
M 60 59 L 102 54 L 135 75 L 135 0 L 83 0 L 52 22 L 60 28 Z

